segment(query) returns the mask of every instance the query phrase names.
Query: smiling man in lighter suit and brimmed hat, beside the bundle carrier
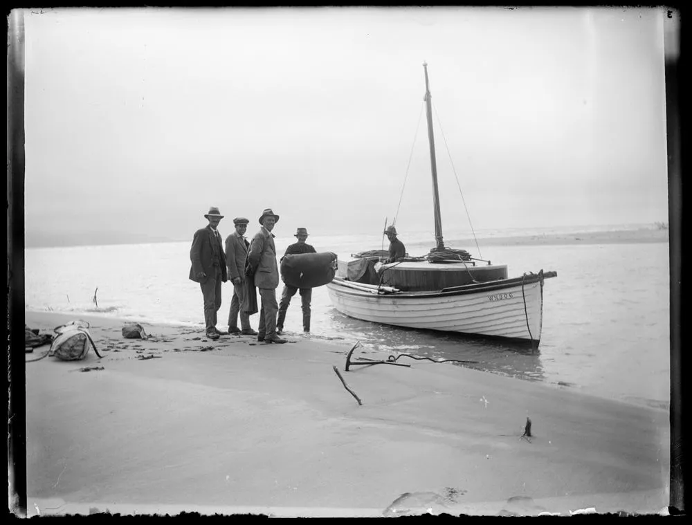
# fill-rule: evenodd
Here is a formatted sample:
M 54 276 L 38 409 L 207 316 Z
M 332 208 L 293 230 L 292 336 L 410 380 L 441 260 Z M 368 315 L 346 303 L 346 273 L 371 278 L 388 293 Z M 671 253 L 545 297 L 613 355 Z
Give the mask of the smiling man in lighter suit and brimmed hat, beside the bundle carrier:
M 276 333 L 276 287 L 279 286 L 279 267 L 276 264 L 276 247 L 274 246 L 275 223 L 279 216 L 267 208 L 260 216 L 260 231 L 255 234 L 248 249 L 249 275 L 254 275 L 255 286 L 260 290 L 262 307 L 260 324 L 257 326 L 257 340 L 266 343 L 284 343 Z

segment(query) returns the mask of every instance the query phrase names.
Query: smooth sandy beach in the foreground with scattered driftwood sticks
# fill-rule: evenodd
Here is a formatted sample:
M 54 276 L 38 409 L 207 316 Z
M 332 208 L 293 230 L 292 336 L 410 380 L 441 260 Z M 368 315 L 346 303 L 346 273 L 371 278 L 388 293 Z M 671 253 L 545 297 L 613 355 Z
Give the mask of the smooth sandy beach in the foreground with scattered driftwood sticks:
M 28 515 L 660 513 L 668 412 L 401 358 L 345 371 L 356 341 L 206 340 L 81 318 L 99 359 L 26 354 Z M 388 353 L 353 358 L 386 359 Z M 363 405 L 347 392 L 333 367 Z M 531 437 L 522 438 L 527 417 Z

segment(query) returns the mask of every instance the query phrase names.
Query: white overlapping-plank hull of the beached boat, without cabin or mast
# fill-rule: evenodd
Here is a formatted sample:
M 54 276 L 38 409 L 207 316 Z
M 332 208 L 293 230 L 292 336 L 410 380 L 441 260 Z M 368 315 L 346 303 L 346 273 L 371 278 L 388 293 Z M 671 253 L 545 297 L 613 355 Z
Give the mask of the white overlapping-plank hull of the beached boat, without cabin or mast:
M 356 319 L 493 338 L 540 342 L 543 324 L 543 275 L 446 288 L 437 292 L 381 294 L 327 284 L 334 307 Z

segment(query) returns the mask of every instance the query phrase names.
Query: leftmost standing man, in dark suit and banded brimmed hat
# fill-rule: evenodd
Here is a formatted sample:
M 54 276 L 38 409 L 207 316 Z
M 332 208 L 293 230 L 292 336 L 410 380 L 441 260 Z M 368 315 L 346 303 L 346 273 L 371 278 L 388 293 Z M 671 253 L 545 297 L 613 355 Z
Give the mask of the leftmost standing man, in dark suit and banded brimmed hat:
M 206 335 L 210 339 L 218 339 L 217 311 L 221 308 L 221 283 L 228 281 L 226 271 L 226 255 L 221 245 L 221 234 L 217 226 L 224 218 L 219 208 L 209 208 L 204 216 L 209 224 L 194 232 L 192 248 L 190 248 L 190 279 L 198 282 L 204 298 L 204 324 Z

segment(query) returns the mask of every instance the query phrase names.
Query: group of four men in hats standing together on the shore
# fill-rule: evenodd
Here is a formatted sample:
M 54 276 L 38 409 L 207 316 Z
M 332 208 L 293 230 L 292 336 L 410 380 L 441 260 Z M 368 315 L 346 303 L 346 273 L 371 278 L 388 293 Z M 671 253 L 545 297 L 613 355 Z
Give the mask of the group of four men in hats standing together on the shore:
M 217 330 L 217 312 L 221 307 L 221 284 L 230 280 L 233 284 L 233 298 L 228 314 L 228 333 L 257 335 L 257 340 L 266 343 L 285 343 L 279 337 L 284 329 L 286 310 L 291 297 L 299 288 L 286 284 L 280 305 L 276 301 L 276 288 L 279 286 L 279 268 L 276 262 L 275 235 L 271 232 L 279 221 L 279 216 L 271 208 L 260 215 L 260 231 L 248 242 L 245 234 L 248 219 L 233 219 L 235 231 L 226 237 L 226 250 L 221 241 L 218 226 L 224 218 L 219 208 L 210 208 L 204 215 L 208 225 L 194 232 L 190 248 L 190 279 L 198 282 L 204 302 L 204 323 L 206 335 L 216 340 L 225 332 Z M 286 248 L 284 255 L 296 253 L 315 253 L 316 250 L 305 241 L 306 228 L 298 228 L 295 233 L 298 242 Z M 260 292 L 261 307 L 257 308 L 255 288 Z M 310 302 L 312 288 L 300 288 L 303 313 L 303 330 L 310 331 Z M 259 311 L 260 322 L 257 331 L 250 326 L 250 315 Z M 240 328 L 238 328 L 240 317 Z

